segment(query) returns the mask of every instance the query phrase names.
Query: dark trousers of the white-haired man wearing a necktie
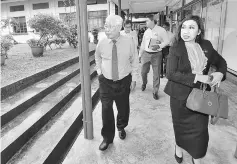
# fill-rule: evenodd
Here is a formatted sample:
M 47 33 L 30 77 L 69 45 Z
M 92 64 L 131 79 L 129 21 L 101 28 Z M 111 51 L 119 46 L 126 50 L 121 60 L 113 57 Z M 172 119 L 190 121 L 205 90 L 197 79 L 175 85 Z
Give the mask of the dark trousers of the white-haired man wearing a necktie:
M 115 119 L 113 111 L 114 101 L 118 110 L 117 129 L 122 130 L 128 125 L 130 113 L 129 94 L 131 82 L 131 74 L 117 82 L 106 79 L 102 74 L 99 76 L 103 122 L 101 135 L 107 142 L 112 142 L 115 135 Z

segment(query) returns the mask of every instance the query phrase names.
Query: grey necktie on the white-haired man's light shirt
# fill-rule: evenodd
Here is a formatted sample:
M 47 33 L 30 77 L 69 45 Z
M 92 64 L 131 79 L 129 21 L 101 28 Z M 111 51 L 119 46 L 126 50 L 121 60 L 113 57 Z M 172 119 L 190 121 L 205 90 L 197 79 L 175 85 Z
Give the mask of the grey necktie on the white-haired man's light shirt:
M 112 79 L 114 81 L 119 79 L 116 40 L 113 40 L 113 49 L 112 49 Z

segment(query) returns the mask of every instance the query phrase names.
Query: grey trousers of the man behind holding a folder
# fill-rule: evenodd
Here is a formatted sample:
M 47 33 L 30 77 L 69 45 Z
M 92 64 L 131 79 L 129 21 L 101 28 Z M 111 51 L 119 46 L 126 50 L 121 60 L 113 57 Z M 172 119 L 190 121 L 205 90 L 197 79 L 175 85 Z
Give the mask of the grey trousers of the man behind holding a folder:
M 160 87 L 160 72 L 161 72 L 162 52 L 144 52 L 141 57 L 142 68 L 141 76 L 144 85 L 147 84 L 147 74 L 150 71 L 150 65 L 153 69 L 153 93 L 158 93 Z

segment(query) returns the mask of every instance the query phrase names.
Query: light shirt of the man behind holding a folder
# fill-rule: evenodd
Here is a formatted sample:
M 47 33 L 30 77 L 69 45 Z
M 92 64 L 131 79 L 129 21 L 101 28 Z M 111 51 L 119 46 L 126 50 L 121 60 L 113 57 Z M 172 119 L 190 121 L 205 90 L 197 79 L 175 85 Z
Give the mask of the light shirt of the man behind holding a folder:
M 161 41 L 161 44 L 159 44 L 160 49 L 158 49 L 157 51 L 154 51 L 148 48 L 151 38 Z M 145 31 L 142 38 L 139 57 L 141 57 L 143 51 L 159 52 L 162 50 L 163 47 L 167 46 L 168 44 L 169 44 L 169 38 L 168 38 L 166 30 L 163 27 L 155 25 L 153 29 L 148 28 Z

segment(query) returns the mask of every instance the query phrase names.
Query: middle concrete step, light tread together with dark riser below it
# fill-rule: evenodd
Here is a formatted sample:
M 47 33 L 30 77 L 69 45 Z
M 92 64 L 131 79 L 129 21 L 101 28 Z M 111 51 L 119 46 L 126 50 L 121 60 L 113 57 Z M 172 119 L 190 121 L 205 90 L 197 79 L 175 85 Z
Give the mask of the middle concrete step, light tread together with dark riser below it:
M 91 66 L 91 78 L 96 76 Z M 6 163 L 81 89 L 80 74 L 28 108 L 2 128 L 2 163 Z

